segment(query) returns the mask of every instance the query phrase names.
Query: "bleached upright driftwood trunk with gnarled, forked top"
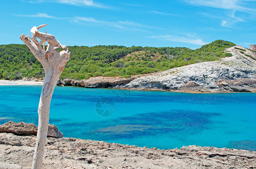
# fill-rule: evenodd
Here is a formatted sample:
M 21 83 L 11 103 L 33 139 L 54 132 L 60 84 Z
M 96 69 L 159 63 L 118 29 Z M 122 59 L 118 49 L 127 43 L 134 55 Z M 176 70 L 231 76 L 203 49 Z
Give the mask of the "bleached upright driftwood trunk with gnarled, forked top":
M 31 29 L 33 37 L 22 34 L 20 39 L 28 46 L 32 54 L 40 61 L 45 70 L 45 79 L 42 86 L 39 102 L 39 128 L 36 138 L 35 153 L 33 157 L 32 168 L 41 168 L 42 158 L 44 156 L 45 141 L 48 132 L 50 101 L 53 91 L 67 61 L 69 61 L 70 52 L 66 45 L 61 45 L 59 41 L 51 34 L 41 33 L 39 29 L 47 24 L 34 26 Z M 39 38 L 41 42 L 37 41 Z M 45 42 L 48 46 L 45 50 Z M 41 47 L 43 45 L 43 48 Z M 57 48 L 63 48 L 61 52 Z

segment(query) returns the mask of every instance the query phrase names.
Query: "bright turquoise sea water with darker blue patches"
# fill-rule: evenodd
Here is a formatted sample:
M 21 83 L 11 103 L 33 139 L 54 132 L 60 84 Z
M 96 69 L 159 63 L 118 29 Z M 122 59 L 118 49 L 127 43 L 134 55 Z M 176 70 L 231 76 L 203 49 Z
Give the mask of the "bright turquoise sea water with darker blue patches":
M 0 123 L 36 123 L 41 86 L 0 86 Z M 104 104 L 105 103 L 105 104 Z M 160 149 L 256 150 L 256 93 L 183 94 L 56 87 L 50 123 L 65 137 Z

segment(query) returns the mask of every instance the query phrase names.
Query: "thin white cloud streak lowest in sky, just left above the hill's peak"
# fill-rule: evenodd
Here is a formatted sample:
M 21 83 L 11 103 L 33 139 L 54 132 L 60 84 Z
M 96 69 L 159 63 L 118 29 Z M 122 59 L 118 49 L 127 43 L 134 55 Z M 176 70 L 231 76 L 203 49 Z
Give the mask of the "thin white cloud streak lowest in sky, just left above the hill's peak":
M 157 35 L 151 36 L 150 38 L 161 39 L 164 41 L 172 41 L 172 42 L 182 42 L 182 43 L 191 43 L 194 45 L 206 45 L 207 42 L 203 42 L 202 39 L 195 39 L 191 37 L 178 37 L 176 35 Z

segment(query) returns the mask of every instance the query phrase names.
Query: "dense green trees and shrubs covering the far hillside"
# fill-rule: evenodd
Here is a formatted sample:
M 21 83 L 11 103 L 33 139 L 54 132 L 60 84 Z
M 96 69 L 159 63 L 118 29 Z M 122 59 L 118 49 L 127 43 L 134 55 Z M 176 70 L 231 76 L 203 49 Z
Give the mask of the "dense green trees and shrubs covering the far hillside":
M 232 56 L 234 43 L 217 40 L 197 50 L 185 47 L 70 46 L 70 61 L 61 78 L 87 79 L 152 73 Z M 0 79 L 44 77 L 42 65 L 25 45 L 0 46 Z

